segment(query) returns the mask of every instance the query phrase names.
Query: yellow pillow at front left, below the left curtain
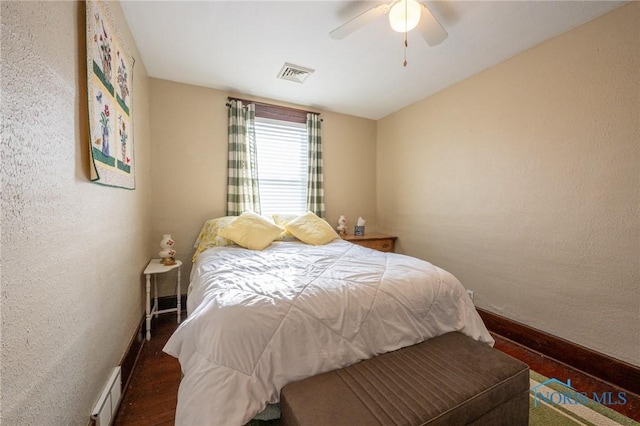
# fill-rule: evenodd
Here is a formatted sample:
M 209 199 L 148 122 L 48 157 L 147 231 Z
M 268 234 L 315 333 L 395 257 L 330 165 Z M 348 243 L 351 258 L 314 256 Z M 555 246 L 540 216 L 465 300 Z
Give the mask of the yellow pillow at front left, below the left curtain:
M 220 231 L 220 235 L 250 250 L 267 248 L 283 229 L 253 212 L 244 212 Z

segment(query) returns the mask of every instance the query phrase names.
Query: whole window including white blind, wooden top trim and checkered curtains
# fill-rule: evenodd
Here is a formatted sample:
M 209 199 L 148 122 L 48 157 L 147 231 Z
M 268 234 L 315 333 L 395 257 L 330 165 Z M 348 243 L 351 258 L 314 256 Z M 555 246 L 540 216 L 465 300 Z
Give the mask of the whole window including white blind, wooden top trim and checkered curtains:
M 244 127 L 229 126 L 228 176 L 231 178 L 227 179 L 227 214 L 257 209 L 260 204 L 260 211 L 265 215 L 301 214 L 311 210 L 324 217 L 319 114 L 239 98 L 229 100 L 253 105 L 255 116 L 245 120 L 254 123 L 255 133 L 250 132 L 249 137 L 255 135 L 255 140 L 251 139 L 246 145 L 251 151 L 247 152 L 249 161 L 233 160 L 236 153 L 243 154 L 233 129 Z M 228 106 L 232 118 L 242 120 L 242 111 L 237 105 L 231 102 Z M 259 202 L 255 199 L 257 192 Z

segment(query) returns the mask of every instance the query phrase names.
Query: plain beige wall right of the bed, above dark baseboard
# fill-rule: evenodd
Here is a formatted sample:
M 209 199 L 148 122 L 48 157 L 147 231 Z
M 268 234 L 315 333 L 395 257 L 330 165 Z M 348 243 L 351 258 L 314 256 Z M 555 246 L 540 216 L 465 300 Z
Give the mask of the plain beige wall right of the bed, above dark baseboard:
M 640 365 L 640 4 L 378 122 L 378 228 L 489 311 Z

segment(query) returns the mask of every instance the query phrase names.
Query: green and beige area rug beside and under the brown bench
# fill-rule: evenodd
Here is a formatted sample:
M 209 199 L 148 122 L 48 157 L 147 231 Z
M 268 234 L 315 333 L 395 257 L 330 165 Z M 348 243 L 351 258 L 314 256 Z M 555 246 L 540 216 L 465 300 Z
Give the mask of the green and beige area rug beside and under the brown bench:
M 578 392 L 569 380 L 550 379 L 535 371 L 530 372 L 529 381 L 529 426 L 640 426 L 608 407 L 626 403 L 624 394 Z M 252 420 L 246 426 L 280 426 L 280 421 Z

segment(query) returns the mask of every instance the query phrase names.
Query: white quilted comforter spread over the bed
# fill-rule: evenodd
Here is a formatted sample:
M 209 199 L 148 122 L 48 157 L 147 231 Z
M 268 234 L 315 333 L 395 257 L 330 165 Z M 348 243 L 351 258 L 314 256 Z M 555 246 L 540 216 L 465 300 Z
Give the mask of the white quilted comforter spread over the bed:
M 177 425 L 242 425 L 289 382 L 449 331 L 493 344 L 453 275 L 342 240 L 209 249 L 187 310 L 164 348 L 184 373 Z

